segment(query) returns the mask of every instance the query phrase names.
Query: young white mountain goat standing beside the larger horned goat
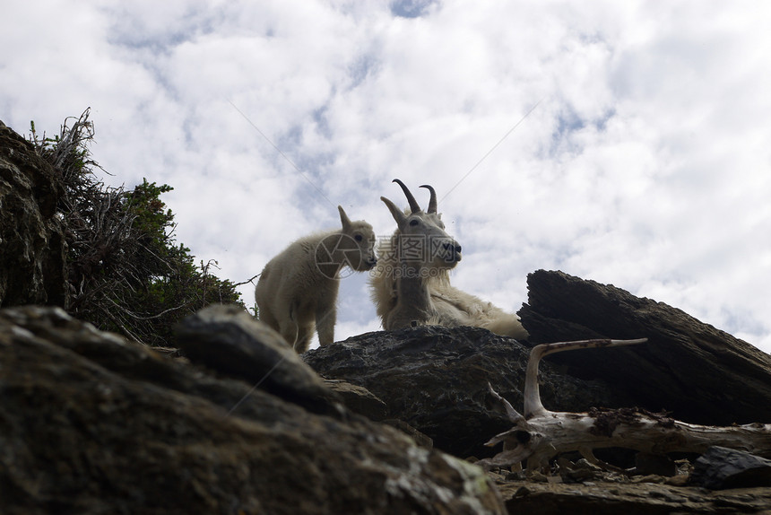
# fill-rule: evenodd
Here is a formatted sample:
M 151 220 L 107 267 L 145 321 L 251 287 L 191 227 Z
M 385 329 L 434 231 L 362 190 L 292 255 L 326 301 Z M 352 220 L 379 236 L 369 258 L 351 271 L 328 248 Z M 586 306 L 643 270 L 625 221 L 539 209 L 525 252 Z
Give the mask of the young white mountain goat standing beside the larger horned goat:
M 314 328 L 320 345 L 334 342 L 342 268 L 365 272 L 377 263 L 372 226 L 337 209 L 342 229 L 291 243 L 265 265 L 255 289 L 260 319 L 299 354 L 308 350 Z

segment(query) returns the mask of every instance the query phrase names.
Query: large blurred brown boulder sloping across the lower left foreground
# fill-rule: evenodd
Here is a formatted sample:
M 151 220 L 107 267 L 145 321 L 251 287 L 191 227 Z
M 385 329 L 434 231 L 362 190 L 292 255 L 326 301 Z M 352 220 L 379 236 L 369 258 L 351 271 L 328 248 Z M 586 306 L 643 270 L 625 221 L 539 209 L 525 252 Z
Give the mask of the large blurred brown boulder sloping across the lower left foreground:
M 0 310 L 2 511 L 505 512 L 479 467 L 264 384 L 217 377 L 60 309 Z

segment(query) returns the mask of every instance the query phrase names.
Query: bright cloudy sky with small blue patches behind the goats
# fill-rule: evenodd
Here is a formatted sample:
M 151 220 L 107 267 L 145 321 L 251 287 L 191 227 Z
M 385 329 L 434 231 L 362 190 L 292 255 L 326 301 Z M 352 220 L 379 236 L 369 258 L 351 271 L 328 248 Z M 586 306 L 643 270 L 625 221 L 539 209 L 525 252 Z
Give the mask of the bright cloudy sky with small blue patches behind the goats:
M 247 281 L 337 205 L 437 190 L 456 287 L 516 311 L 538 269 L 771 352 L 771 4 L 2 0 L 0 120 L 91 108 L 109 185 L 174 188 L 178 242 Z M 254 286 L 239 287 L 254 303 Z M 380 328 L 367 274 L 335 339 Z M 312 345 L 315 346 L 316 344 Z

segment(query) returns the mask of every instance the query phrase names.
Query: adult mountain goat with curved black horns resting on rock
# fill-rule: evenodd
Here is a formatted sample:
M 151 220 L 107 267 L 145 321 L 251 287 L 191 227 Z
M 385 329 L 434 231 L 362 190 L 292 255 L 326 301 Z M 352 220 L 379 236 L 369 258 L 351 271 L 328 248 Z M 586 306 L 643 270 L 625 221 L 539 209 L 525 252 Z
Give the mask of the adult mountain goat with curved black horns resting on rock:
M 461 246 L 445 231 L 437 214 L 437 193 L 430 192 L 429 208 L 420 205 L 399 179 L 394 179 L 410 204 L 402 211 L 380 199 L 391 211 L 397 228 L 378 246 L 377 269 L 370 275 L 372 300 L 385 330 L 414 325 L 476 326 L 515 338 L 527 331 L 515 314 L 450 285 L 449 270 L 461 260 Z

